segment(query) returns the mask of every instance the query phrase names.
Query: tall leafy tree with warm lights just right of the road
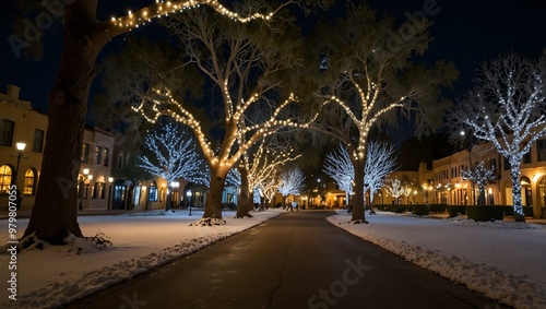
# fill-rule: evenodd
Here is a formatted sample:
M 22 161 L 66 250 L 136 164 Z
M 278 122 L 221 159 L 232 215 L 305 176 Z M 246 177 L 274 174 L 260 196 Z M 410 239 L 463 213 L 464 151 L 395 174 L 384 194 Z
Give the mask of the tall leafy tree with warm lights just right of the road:
M 349 151 L 355 169 L 352 221 L 367 223 L 364 173 L 370 130 L 395 127 L 405 118 L 414 121 L 416 134 L 430 132 L 448 107 L 440 94 L 458 74 L 446 61 L 414 62 L 430 41 L 429 22 L 411 19 L 400 24 L 390 15 L 378 19 L 366 3 L 347 5 L 344 20 L 316 32 L 313 66 L 324 78 L 319 95 L 333 104 L 325 106 L 313 129 Z

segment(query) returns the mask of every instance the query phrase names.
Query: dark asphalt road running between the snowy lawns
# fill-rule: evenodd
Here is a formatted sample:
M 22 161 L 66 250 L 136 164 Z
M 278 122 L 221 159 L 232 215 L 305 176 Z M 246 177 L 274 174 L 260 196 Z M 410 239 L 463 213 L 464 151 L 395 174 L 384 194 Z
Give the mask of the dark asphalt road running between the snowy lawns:
M 282 214 L 69 308 L 501 308 L 331 225 L 332 214 Z

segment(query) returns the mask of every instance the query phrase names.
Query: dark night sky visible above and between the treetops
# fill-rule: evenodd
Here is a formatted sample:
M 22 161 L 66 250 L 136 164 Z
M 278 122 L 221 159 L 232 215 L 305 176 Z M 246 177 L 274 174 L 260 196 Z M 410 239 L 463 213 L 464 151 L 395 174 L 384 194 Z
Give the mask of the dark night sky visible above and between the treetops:
M 424 5 L 431 1 L 370 0 L 369 3 L 379 11 L 388 10 L 404 17 L 404 12 L 423 11 Z M 3 15 L 0 27 L 0 36 L 3 37 L 0 48 L 0 91 L 5 92 L 7 84 L 19 85 L 22 87 L 23 99 L 31 100 L 35 108 L 47 110 L 47 95 L 57 70 L 62 28 L 54 25 L 44 31 L 46 57 L 40 61 L 16 58 L 8 40 L 12 33 L 11 25 L 20 14 L 13 2 L 14 0 L 2 1 L 0 4 Z M 109 20 L 111 15 L 123 14 L 129 9 L 135 11 L 153 2 L 155 0 L 99 0 L 99 17 Z M 436 3 L 438 13 L 429 16 L 434 22 L 430 32 L 435 40 L 426 54 L 426 59 L 447 59 L 455 63 L 461 71 L 455 95 L 468 88 L 474 70 L 482 61 L 506 51 L 536 56 L 546 48 L 545 0 L 436 0 Z M 327 13 L 333 12 L 335 11 Z M 135 35 L 139 32 L 135 32 Z M 111 46 L 119 47 L 122 44 L 123 37 L 119 37 Z M 108 50 L 103 51 L 103 55 Z M 97 85 L 99 81 L 94 82 L 94 88 Z

